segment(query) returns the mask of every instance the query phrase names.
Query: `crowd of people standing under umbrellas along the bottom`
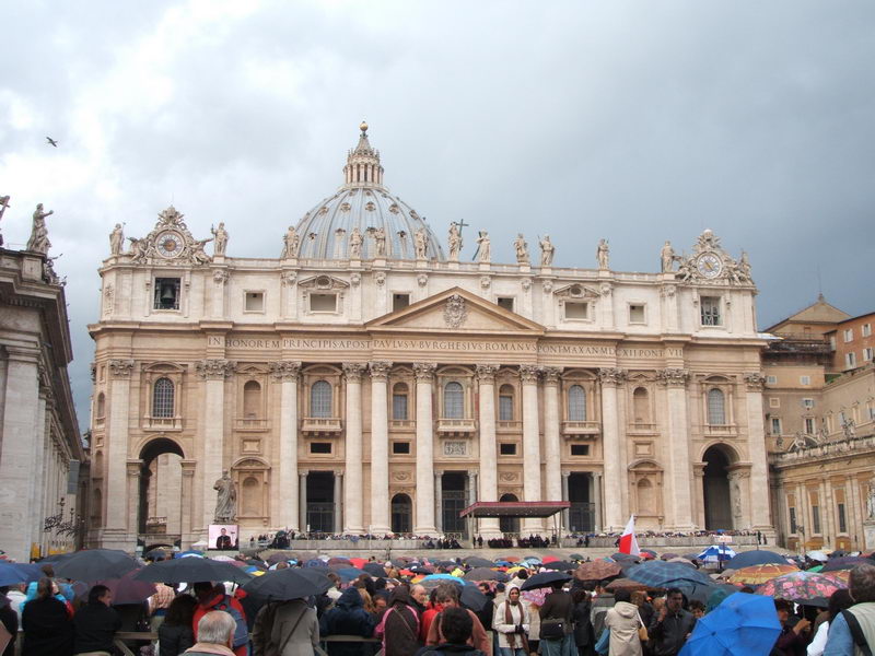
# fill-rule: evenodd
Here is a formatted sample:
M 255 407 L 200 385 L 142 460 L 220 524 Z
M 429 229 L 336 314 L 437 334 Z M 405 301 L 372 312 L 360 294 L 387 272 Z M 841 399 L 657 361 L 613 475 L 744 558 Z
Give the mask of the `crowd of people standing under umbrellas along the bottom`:
M 290 566 L 296 565 L 275 564 Z M 516 569 L 506 583 L 480 581 L 477 604 L 466 600 L 466 586 L 441 582 L 427 588 L 392 563 L 383 567 L 385 576 L 345 579 L 329 572 L 324 594 L 283 601 L 259 600 L 217 582 L 160 584 L 141 605 L 156 636 L 142 653 L 312 656 L 322 643 L 329 656 L 674 656 L 697 622 L 734 594 L 719 588 L 702 602 L 677 587 L 656 595 L 628 587 L 611 591 L 607 579 L 573 576 L 528 589 L 536 569 Z M 436 573 L 459 576 L 469 570 L 457 559 Z M 0 621 L 13 639 L 2 656 L 14 654 L 19 628 L 22 656 L 109 656 L 116 632 L 138 628 L 125 626 L 127 613 L 108 587 L 94 585 L 77 595 L 49 565 L 44 573 L 21 589 L 0 588 Z M 875 564 L 858 565 L 849 581 L 849 589 L 832 594 L 826 609 L 774 599 L 780 633 L 758 653 L 867 653 L 855 649 L 875 646 Z M 752 591 L 743 587 L 737 594 Z

